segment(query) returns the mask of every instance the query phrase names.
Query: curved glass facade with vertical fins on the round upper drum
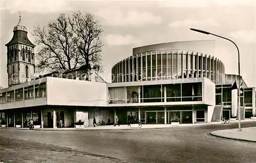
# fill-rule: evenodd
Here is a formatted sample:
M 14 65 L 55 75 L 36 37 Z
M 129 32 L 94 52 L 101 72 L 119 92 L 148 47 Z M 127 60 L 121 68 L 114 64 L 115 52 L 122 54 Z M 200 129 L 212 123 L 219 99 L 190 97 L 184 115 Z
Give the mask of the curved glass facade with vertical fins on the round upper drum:
M 112 82 L 151 81 L 181 78 L 225 82 L 225 66 L 207 54 L 183 50 L 156 50 L 135 54 L 112 67 Z

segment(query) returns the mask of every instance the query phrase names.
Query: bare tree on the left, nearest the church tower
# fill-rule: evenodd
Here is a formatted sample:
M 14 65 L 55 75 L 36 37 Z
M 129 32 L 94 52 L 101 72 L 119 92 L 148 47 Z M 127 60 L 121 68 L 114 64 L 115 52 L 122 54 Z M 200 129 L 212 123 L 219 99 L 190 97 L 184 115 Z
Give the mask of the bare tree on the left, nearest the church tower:
M 50 21 L 47 29 L 34 27 L 32 35 L 39 45 L 39 52 L 36 54 L 38 72 L 66 70 L 80 65 L 74 34 L 65 14 Z

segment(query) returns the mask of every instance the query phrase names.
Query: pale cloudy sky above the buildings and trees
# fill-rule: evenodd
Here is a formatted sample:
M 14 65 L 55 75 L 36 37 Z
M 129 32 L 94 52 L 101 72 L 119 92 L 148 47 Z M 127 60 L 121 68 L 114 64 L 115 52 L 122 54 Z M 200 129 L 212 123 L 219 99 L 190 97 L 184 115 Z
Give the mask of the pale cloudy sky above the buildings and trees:
M 7 48 L 19 12 L 31 35 L 34 26 L 47 26 L 60 13 L 90 12 L 102 25 L 102 77 L 111 82 L 111 68 L 132 55 L 132 49 L 156 43 L 216 40 L 216 54 L 226 74 L 238 74 L 238 53 L 231 42 L 190 31 L 201 29 L 227 37 L 239 47 L 241 76 L 249 87 L 255 79 L 255 6 L 253 0 L 172 0 L 172 1 L 1 1 L 0 85 L 7 87 Z M 193 51 L 193 50 L 191 50 Z M 35 48 L 35 53 L 37 49 Z M 204 52 L 200 52 L 204 53 Z

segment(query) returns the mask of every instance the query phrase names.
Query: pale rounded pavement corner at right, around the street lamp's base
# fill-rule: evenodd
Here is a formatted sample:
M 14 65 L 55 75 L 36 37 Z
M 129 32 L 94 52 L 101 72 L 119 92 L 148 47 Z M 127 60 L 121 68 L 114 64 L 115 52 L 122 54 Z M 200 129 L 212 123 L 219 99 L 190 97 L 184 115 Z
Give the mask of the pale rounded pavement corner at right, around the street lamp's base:
M 256 127 L 242 128 L 242 131 L 238 131 L 238 129 L 211 131 L 210 135 L 214 135 L 222 138 L 234 139 L 238 141 L 247 141 L 247 142 L 256 143 Z

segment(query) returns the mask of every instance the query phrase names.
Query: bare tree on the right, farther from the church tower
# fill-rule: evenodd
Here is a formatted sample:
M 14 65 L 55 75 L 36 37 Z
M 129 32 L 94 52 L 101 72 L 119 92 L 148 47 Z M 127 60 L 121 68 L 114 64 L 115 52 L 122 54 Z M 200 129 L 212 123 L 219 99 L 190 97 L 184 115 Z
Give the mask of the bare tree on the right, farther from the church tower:
M 86 68 L 91 68 L 91 64 L 99 65 L 97 72 L 102 72 L 101 65 L 101 47 L 103 43 L 100 40 L 103 30 L 98 21 L 90 13 L 74 12 L 69 18 L 72 31 L 75 34 L 74 42 L 77 51 L 84 61 Z

